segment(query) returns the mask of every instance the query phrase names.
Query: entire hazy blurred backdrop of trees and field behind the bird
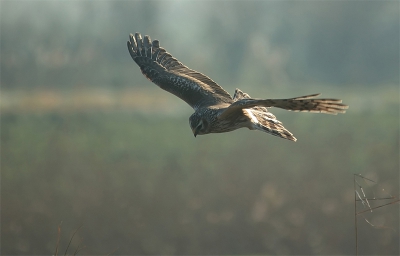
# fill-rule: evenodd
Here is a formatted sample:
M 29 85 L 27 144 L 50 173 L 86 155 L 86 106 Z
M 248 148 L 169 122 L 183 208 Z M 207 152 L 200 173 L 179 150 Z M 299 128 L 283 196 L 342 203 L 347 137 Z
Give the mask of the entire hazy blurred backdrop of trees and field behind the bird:
M 60 222 L 61 253 L 83 225 L 69 254 L 354 254 L 353 174 L 399 195 L 398 1 L 0 4 L 2 255 L 54 253 Z M 132 61 L 134 32 L 232 94 L 350 108 L 273 109 L 296 143 L 194 138 L 193 110 Z M 398 227 L 398 205 L 360 216 L 359 253 L 398 255 Z

